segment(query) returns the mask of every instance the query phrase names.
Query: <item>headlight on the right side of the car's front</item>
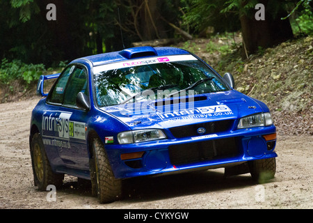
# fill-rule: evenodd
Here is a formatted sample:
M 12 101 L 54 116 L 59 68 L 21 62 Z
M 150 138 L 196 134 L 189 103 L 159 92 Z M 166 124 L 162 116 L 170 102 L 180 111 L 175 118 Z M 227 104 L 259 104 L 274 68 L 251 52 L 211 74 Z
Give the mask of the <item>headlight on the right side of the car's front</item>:
M 252 116 L 247 116 L 239 120 L 237 128 L 252 128 L 260 126 L 272 125 L 273 120 L 271 118 L 271 113 L 259 113 Z

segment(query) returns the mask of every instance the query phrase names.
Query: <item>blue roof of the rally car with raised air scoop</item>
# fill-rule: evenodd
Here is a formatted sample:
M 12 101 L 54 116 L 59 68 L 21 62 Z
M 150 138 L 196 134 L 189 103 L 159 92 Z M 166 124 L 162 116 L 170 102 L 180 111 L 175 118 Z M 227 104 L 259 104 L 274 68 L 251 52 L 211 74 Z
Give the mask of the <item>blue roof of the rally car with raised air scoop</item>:
M 71 63 L 82 63 L 86 60 L 93 64 L 93 66 L 104 65 L 106 63 L 115 63 L 118 61 L 127 61 L 129 59 L 138 59 L 149 56 L 169 56 L 179 54 L 190 54 L 184 49 L 175 47 L 133 47 L 123 49 L 118 52 L 109 52 L 104 54 L 96 54 L 93 56 L 85 56 L 75 59 Z

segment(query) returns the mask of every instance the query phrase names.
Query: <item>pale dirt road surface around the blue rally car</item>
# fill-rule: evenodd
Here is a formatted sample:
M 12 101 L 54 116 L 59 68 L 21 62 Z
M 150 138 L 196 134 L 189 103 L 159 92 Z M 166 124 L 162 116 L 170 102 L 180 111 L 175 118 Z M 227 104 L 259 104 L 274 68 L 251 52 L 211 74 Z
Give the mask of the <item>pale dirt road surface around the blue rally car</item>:
M 33 185 L 29 121 L 38 98 L 0 104 L 0 208 L 313 208 L 313 137 L 278 135 L 277 172 L 263 185 L 223 169 L 124 181 L 124 199 L 99 204 L 65 176 L 56 201 Z M 48 199 L 47 199 L 48 195 Z

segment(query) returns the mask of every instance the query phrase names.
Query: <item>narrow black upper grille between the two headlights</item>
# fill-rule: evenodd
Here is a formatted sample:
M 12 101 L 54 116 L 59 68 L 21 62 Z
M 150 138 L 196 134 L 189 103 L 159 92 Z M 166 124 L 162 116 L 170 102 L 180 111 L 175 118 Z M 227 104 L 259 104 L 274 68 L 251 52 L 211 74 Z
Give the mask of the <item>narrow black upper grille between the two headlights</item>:
M 193 137 L 199 135 L 197 132 L 198 128 L 205 128 L 206 132 L 204 132 L 204 135 L 213 134 L 216 132 L 230 130 L 232 123 L 232 120 L 211 121 L 207 123 L 198 123 L 195 125 L 184 125 L 170 128 L 170 132 L 172 132 L 173 136 L 177 139 L 182 137 Z

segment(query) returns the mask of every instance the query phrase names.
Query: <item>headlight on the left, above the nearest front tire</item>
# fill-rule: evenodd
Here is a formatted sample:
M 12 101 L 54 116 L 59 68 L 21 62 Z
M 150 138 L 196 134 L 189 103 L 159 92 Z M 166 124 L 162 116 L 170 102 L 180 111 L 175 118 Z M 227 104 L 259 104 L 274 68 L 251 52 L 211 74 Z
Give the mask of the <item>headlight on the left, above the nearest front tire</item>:
M 166 134 L 162 130 L 134 130 L 118 133 L 120 144 L 133 144 L 157 139 L 166 139 Z

